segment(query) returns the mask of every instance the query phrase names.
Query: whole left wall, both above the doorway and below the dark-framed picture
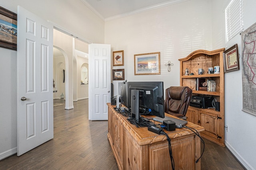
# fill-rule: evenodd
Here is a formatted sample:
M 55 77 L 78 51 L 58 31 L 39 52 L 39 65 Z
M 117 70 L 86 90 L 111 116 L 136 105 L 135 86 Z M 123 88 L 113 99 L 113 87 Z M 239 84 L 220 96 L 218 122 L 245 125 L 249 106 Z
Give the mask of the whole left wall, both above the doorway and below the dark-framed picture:
M 89 42 L 104 43 L 104 21 L 81 1 L 11 0 L 0 6 L 17 13 L 17 5 L 49 20 L 55 26 L 79 35 Z M 0 160 L 17 151 L 17 56 L 16 51 L 0 47 Z

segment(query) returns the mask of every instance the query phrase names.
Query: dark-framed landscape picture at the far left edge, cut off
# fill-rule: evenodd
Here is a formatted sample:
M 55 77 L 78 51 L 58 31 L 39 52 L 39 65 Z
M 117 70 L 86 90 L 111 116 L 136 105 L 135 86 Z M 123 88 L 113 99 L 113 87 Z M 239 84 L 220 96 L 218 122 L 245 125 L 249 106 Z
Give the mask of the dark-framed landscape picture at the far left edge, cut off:
M 1 6 L 0 47 L 17 50 L 17 14 Z

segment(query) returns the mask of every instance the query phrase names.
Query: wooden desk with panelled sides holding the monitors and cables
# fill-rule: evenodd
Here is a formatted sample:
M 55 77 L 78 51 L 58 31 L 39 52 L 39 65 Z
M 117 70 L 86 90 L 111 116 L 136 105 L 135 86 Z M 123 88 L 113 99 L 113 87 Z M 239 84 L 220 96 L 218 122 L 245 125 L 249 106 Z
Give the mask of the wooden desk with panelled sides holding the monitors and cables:
M 165 135 L 137 128 L 108 103 L 108 140 L 120 170 L 171 170 L 172 165 Z M 168 116 L 171 116 L 168 114 Z M 188 122 L 199 133 L 204 127 Z M 201 141 L 186 128 L 165 131 L 171 138 L 175 170 L 200 170 Z

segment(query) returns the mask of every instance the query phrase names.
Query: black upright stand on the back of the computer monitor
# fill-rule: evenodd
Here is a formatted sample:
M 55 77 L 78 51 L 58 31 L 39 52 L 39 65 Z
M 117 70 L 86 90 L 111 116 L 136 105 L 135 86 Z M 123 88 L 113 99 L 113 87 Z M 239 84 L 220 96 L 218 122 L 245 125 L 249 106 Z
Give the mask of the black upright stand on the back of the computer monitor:
M 139 120 L 139 90 L 131 90 L 131 117 Z

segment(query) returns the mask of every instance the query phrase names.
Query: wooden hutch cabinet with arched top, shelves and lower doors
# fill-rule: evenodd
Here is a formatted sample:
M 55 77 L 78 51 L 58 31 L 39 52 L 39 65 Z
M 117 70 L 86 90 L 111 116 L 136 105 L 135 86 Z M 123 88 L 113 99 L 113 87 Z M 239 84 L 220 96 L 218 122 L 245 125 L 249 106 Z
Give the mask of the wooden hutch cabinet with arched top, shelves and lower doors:
M 188 121 L 201 125 L 205 131 L 201 133 L 202 137 L 217 143 L 221 146 L 224 144 L 224 65 L 223 52 L 225 48 L 214 51 L 196 50 L 190 53 L 186 58 L 179 59 L 180 61 L 180 86 L 188 86 L 191 88 L 192 95 L 212 96 L 214 100 L 220 102 L 220 111 L 215 109 L 202 109 L 198 107 L 188 107 L 186 116 Z M 220 66 L 220 74 L 208 74 L 208 68 Z M 185 75 L 185 70 L 188 68 L 190 73 L 194 75 Z M 204 73 L 198 75 L 198 68 L 203 68 Z M 196 90 L 196 78 L 205 78 L 216 82 L 216 91 L 200 91 Z

